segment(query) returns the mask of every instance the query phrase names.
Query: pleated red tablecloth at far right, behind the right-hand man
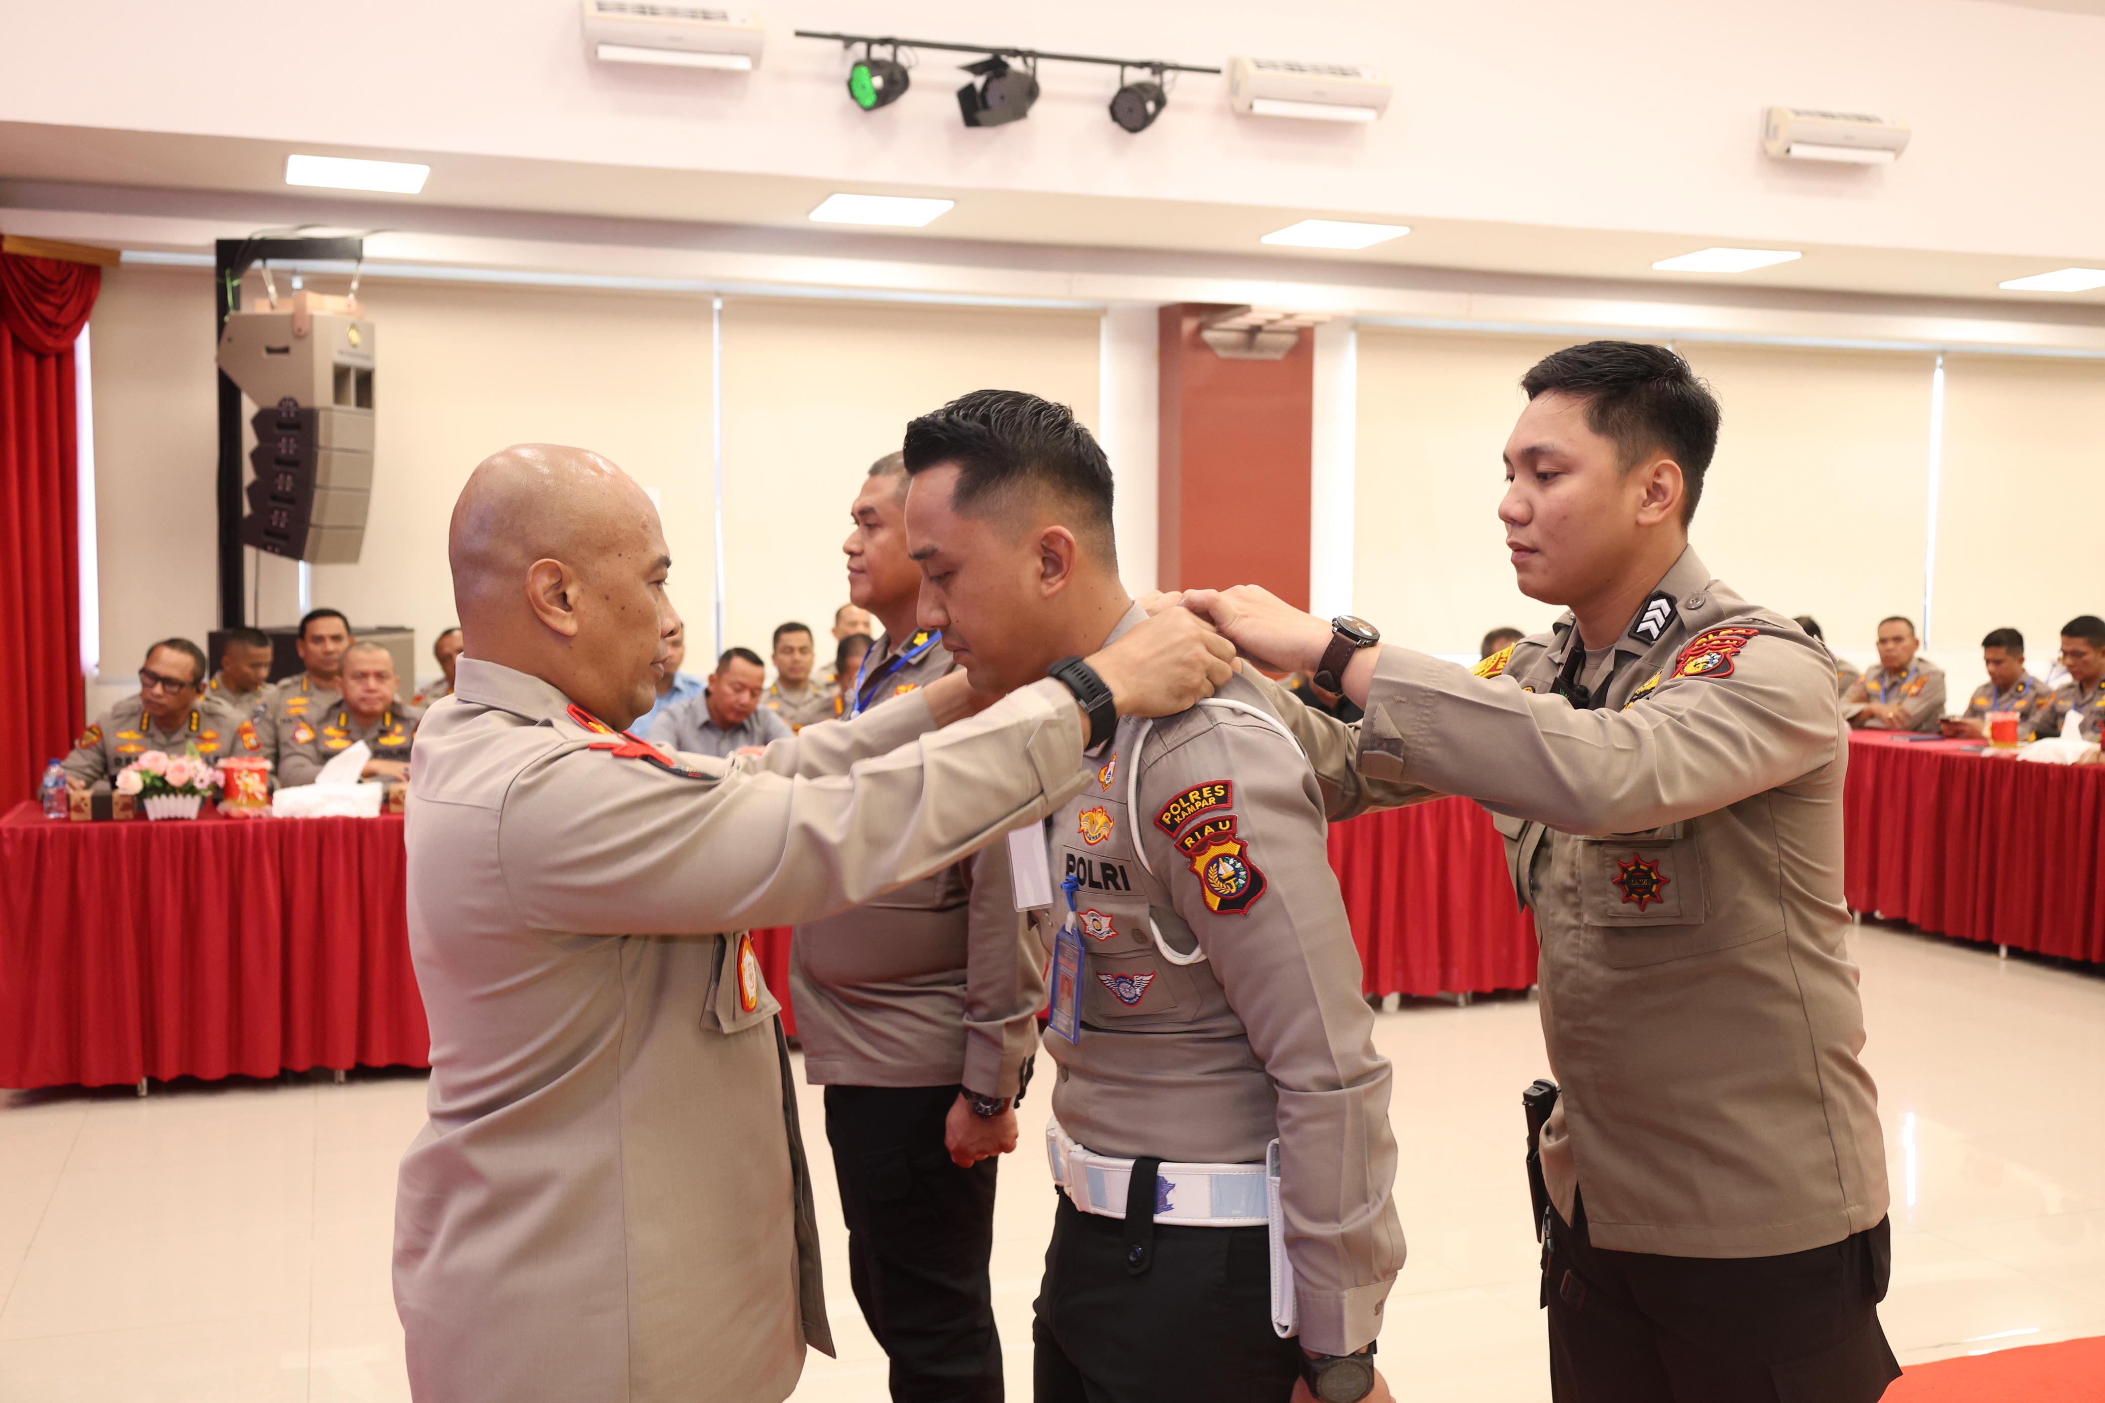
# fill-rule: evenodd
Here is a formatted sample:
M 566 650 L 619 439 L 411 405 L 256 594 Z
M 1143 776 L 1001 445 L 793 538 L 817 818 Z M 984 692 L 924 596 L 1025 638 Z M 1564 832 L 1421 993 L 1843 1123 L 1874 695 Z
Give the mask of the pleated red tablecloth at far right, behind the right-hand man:
M 2105 766 L 1960 740 L 1850 736 L 1842 886 L 1855 911 L 2105 961 Z

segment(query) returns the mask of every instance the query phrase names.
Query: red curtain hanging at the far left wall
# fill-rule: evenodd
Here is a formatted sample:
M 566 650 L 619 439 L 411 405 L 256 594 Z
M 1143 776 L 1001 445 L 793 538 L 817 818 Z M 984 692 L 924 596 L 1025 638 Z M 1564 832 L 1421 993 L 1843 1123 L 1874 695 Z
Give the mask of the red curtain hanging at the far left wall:
M 0 801 L 82 726 L 74 339 L 103 269 L 0 252 Z

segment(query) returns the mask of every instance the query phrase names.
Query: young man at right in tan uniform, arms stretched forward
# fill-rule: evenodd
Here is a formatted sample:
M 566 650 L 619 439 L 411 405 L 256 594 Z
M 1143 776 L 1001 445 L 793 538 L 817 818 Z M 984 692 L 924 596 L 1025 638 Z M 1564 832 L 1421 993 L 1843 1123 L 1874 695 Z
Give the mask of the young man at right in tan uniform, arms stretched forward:
M 1570 606 L 1551 633 L 1471 675 L 1261 589 L 1185 602 L 1366 707 L 1286 717 L 1332 814 L 1450 793 L 1505 835 L 1562 1083 L 1553 1397 L 1869 1403 L 1899 1367 L 1827 650 L 1688 549 L 1718 404 L 1678 355 L 1589 343 L 1522 385 L 1499 515 L 1520 589 Z

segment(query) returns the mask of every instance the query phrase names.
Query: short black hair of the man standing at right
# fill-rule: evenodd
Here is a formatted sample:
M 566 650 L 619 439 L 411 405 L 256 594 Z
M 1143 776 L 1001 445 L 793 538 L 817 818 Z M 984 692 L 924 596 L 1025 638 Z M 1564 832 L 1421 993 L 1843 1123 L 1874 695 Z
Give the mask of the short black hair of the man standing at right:
M 1688 362 L 1644 341 L 1587 341 L 1551 351 L 1520 377 L 1528 400 L 1572 395 L 1585 400 L 1585 423 L 1623 450 L 1636 467 L 1646 452 L 1663 450 L 1682 465 L 1682 526 L 1703 501 L 1703 473 L 1718 452 L 1718 398 Z

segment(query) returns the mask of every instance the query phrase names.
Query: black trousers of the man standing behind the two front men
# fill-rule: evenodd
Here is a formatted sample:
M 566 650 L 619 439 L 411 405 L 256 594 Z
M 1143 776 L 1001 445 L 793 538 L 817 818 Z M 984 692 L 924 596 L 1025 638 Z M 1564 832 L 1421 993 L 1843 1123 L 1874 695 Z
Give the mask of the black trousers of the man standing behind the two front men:
M 899 1403 L 1002 1403 L 994 1329 L 996 1161 L 943 1148 L 956 1085 L 829 1085 L 825 1138 L 848 1220 L 848 1283 Z

